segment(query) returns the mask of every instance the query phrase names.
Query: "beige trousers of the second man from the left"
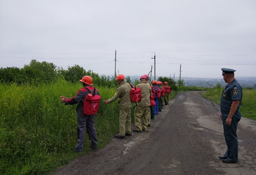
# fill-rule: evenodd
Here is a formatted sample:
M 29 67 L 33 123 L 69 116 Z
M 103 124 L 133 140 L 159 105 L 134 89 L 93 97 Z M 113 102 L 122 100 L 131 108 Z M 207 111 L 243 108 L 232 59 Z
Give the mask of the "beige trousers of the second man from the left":
M 124 136 L 125 133 L 132 133 L 131 108 L 120 109 L 119 112 L 119 135 Z

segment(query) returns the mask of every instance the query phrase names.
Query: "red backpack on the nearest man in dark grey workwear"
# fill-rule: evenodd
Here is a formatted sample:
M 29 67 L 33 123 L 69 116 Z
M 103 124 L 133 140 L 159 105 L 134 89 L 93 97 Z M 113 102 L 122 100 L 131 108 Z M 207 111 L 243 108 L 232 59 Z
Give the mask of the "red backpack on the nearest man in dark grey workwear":
M 100 108 L 100 95 L 95 95 L 96 88 L 94 87 L 93 93 L 85 87 L 89 92 L 83 100 L 83 113 L 86 115 L 96 114 Z

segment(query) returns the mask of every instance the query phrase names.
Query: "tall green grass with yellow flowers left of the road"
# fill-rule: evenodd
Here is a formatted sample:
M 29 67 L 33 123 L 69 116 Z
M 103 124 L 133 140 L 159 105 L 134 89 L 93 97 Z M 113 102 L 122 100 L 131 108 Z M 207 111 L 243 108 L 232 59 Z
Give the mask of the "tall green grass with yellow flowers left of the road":
M 73 97 L 82 87 L 65 80 L 42 85 L 0 84 L 0 174 L 47 174 L 78 154 L 76 105 L 64 105 L 60 96 Z M 98 148 L 119 131 L 119 105 L 106 105 L 116 88 L 97 88 L 102 100 L 96 114 Z M 132 109 L 132 119 L 134 109 Z M 86 133 L 83 153 L 90 151 Z

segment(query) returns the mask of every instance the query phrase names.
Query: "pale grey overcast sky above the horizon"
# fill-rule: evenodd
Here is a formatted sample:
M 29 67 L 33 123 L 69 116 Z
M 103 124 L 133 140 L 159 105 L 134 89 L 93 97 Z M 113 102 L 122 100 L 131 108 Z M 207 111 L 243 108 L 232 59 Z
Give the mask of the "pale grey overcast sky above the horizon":
M 256 0 L 0 0 L 0 67 L 256 76 Z M 151 59 L 156 55 L 156 59 Z

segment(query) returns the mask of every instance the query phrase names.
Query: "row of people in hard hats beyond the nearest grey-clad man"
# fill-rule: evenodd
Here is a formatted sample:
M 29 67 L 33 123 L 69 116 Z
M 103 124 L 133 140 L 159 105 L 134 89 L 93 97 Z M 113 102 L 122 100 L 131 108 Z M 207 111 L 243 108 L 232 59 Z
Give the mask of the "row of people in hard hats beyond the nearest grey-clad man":
M 105 100 L 106 104 L 110 104 L 119 98 L 119 134 L 114 136 L 119 139 L 132 135 L 132 103 L 130 100 L 130 90 L 132 87 L 124 79 L 125 77 L 122 74 L 116 77 L 119 85 L 117 86 L 116 94 L 112 98 Z M 164 105 L 169 105 L 171 87 L 168 86 L 167 82 L 164 82 L 163 85 L 162 82 L 156 82 L 156 80 L 151 84 L 148 75 L 141 76 L 140 83 L 136 87 L 141 88 L 141 100 L 136 104 L 134 113 L 135 130 L 133 132 L 146 132 L 147 127 L 150 127 L 150 120 L 154 119 L 155 115 L 161 111 L 163 100 Z

